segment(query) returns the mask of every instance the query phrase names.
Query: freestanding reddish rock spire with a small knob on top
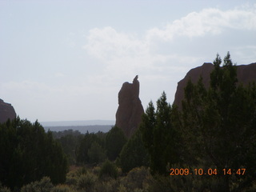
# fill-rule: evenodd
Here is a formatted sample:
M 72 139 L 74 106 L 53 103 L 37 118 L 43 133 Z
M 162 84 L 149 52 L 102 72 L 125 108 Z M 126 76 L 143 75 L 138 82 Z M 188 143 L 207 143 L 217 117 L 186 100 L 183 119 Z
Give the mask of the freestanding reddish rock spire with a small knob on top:
M 118 110 L 116 113 L 115 125 L 121 128 L 126 137 L 130 138 L 138 128 L 144 114 L 139 95 L 138 75 L 134 78 L 133 83 L 124 82 L 118 93 Z

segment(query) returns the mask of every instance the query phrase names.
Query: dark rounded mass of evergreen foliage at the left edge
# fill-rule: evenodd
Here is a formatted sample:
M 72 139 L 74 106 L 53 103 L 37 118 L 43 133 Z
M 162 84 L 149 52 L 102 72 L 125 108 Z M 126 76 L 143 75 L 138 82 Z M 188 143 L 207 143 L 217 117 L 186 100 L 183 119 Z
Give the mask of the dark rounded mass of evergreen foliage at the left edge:
M 11 189 L 49 176 L 65 182 L 68 164 L 62 147 L 38 123 L 15 118 L 0 125 L 0 181 Z

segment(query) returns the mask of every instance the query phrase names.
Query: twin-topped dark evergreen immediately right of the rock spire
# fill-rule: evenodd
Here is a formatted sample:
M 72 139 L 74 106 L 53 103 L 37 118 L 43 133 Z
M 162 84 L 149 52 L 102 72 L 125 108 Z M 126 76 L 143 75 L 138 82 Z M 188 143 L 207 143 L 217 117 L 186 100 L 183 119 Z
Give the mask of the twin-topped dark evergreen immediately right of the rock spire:
M 171 121 L 172 108 L 166 102 L 166 94 L 157 101 L 157 110 L 152 102 L 142 116 L 142 139 L 150 154 L 150 170 L 153 174 L 167 174 L 166 166 L 179 162 L 178 131 Z

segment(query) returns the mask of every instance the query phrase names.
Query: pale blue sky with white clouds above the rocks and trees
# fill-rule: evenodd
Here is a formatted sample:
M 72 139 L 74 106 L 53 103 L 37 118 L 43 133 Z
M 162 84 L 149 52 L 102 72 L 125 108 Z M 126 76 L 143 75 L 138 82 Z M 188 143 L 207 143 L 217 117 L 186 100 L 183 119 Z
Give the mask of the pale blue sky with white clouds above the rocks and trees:
M 31 122 L 114 120 L 138 74 L 142 106 L 216 54 L 256 62 L 255 1 L 0 0 L 0 98 Z

